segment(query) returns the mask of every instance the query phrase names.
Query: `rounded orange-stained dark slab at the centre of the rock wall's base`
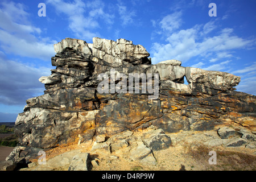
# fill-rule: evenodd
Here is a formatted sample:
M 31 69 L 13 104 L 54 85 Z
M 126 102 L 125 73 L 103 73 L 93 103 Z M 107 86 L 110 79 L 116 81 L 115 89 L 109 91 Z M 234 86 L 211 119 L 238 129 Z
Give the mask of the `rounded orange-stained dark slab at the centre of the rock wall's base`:
M 113 135 L 127 129 L 134 130 L 148 121 L 162 116 L 159 106 L 134 98 L 109 101 L 96 116 L 98 134 Z

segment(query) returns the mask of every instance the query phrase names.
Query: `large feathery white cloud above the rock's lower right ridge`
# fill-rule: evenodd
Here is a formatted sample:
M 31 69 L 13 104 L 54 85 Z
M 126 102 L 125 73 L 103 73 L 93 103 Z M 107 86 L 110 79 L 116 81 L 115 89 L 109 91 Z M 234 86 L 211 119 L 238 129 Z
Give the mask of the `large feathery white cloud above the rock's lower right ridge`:
M 159 26 L 164 30 L 162 24 L 159 24 Z M 168 26 L 166 27 L 168 28 Z M 204 57 L 211 62 L 215 62 L 223 58 L 233 57 L 230 53 L 233 49 L 246 48 L 255 43 L 255 40 L 246 40 L 233 35 L 232 28 L 224 28 L 216 32 L 215 36 L 206 34 L 215 28 L 213 22 L 208 22 L 204 26 L 196 24 L 192 28 L 178 30 L 171 35 L 165 34 L 166 43 L 156 42 L 151 48 L 152 63 L 156 64 L 168 59 L 185 62 L 195 56 Z M 208 55 L 211 57 L 208 57 Z

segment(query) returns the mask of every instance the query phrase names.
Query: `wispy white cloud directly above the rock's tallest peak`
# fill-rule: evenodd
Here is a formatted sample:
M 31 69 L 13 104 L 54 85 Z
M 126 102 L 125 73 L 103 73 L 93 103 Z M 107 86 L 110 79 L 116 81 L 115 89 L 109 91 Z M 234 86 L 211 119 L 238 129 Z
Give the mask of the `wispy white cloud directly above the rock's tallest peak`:
M 65 2 L 63 0 L 48 0 L 58 14 L 68 18 L 68 27 L 79 39 L 92 40 L 100 34 L 95 31 L 100 28 L 99 19 L 108 25 L 113 24 L 114 15 L 104 12 L 104 2 L 97 0 L 84 3 L 81 0 Z

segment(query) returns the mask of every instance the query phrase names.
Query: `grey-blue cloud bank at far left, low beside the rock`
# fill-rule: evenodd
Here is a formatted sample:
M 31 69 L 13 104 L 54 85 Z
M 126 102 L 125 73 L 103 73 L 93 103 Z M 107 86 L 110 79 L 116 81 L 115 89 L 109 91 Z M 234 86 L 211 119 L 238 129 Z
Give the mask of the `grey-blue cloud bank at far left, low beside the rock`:
M 43 94 L 44 85 L 38 79 L 50 75 L 50 69 L 6 60 L 0 52 L 0 104 L 26 105 L 28 98 Z

